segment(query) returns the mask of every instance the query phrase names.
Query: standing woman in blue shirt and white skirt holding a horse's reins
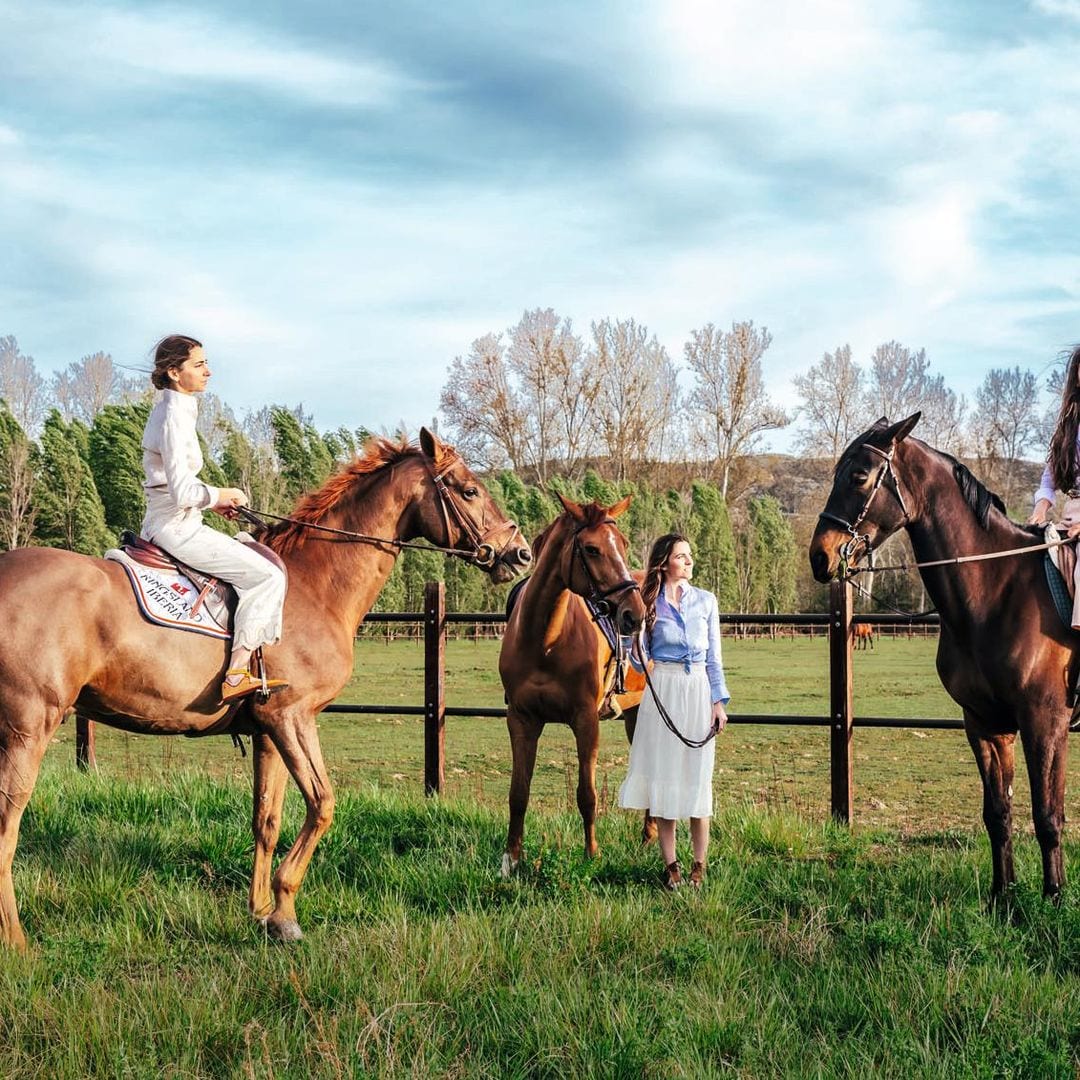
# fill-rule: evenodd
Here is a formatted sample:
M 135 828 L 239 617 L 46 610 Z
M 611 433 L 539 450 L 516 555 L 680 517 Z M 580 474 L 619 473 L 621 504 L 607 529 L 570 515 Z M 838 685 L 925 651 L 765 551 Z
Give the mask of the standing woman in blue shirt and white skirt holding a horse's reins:
M 711 729 L 724 730 L 729 694 L 716 597 L 691 585 L 692 576 L 693 555 L 686 537 L 669 532 L 657 540 L 642 586 L 643 640 L 646 659 L 652 661 L 650 677 L 657 697 L 678 730 L 687 739 L 699 740 Z M 715 757 L 715 742 L 698 748 L 677 739 L 646 691 L 637 713 L 630 771 L 619 788 L 619 806 L 648 810 L 656 819 L 669 890 L 683 883 L 675 855 L 675 823 L 681 819 L 690 819 L 691 886 L 700 887 L 704 877 Z

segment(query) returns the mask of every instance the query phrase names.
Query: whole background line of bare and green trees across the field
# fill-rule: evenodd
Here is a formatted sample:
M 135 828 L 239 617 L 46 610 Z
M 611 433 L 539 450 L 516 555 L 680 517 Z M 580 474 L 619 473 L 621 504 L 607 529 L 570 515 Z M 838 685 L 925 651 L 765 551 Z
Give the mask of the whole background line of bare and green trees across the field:
M 820 608 L 802 572 L 806 542 L 832 468 L 880 415 L 921 409 L 917 434 L 963 456 L 1022 508 L 1048 441 L 1061 372 L 988 372 L 971 403 L 931 370 L 926 351 L 896 341 L 863 363 L 849 346 L 795 376 L 791 413 L 767 392 L 772 337 L 753 322 L 692 330 L 676 365 L 636 321 L 605 319 L 582 337 L 551 309 L 473 341 L 454 359 L 441 395 L 444 434 L 482 473 L 527 536 L 557 513 L 557 492 L 615 502 L 635 496 L 624 530 L 640 566 L 661 532 L 685 532 L 696 580 L 721 608 Z M 99 554 L 143 517 L 140 438 L 152 404 L 145 376 L 105 352 L 42 376 L 14 337 L 0 338 L 0 546 L 44 544 Z M 769 431 L 794 423 L 796 456 L 767 453 Z M 212 484 L 238 484 L 254 505 L 283 513 L 362 447 L 364 428 L 319 431 L 299 406 L 238 417 L 203 395 L 200 437 Z M 1037 471 L 1037 470 L 1036 470 Z M 1023 510 L 1021 510 L 1023 512 Z M 215 515 L 216 527 L 231 526 Z M 461 564 L 410 551 L 380 599 L 418 609 L 426 580 L 446 582 L 453 610 L 491 610 L 502 592 Z M 880 582 L 887 605 L 914 604 L 915 579 Z

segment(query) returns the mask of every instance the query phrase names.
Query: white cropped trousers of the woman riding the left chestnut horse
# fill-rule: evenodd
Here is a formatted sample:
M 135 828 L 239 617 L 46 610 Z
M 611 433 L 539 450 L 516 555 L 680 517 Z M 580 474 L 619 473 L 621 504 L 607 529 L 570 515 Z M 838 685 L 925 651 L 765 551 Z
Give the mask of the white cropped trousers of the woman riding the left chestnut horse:
M 228 581 L 237 590 L 233 648 L 257 649 L 276 644 L 281 638 L 285 575 L 243 541 L 204 525 L 199 511 L 159 516 L 153 513 L 154 500 L 149 501 L 143 537 L 181 563 Z

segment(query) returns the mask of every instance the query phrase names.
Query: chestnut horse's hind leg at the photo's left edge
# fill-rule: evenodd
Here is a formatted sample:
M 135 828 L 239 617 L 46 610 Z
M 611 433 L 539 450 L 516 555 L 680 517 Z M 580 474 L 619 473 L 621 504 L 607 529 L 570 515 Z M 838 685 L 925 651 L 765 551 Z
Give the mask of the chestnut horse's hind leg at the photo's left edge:
M 18 921 L 11 876 L 18 826 L 38 781 L 45 747 L 64 715 L 62 708 L 46 708 L 45 723 L 35 725 L 32 712 L 13 708 L 10 701 L 0 707 L 0 716 L 6 720 L 0 727 L 0 945 L 19 950 L 26 948 L 26 935 Z

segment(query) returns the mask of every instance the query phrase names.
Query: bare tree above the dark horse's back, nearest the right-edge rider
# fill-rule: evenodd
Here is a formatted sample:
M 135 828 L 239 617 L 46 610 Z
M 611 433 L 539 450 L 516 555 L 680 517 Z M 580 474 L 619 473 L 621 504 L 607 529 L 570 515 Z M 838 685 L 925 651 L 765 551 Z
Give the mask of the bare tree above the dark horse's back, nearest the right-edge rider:
M 1017 460 L 1037 444 L 1039 420 L 1039 382 L 1032 372 L 1016 366 L 986 373 L 975 392 L 972 440 L 984 472 L 1004 488 L 1007 503 L 1015 495 Z

